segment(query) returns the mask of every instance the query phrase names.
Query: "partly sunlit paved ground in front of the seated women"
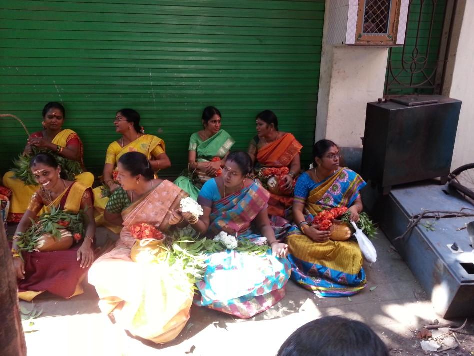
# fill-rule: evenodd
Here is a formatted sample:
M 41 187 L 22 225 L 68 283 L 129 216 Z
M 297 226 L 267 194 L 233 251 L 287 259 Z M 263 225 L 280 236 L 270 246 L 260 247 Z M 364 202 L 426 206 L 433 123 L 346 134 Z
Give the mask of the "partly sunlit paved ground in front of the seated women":
M 365 266 L 368 285 L 351 300 L 318 298 L 289 281 L 285 298 L 250 320 L 193 306 L 183 332 L 166 345 L 142 342 L 112 324 L 99 312 L 98 298 L 90 285 L 83 295 L 70 300 L 41 295 L 34 307 L 42 309 L 42 315 L 33 320 L 34 325 L 25 322 L 26 331 L 37 330 L 26 333 L 28 355 L 274 355 L 296 328 L 325 315 L 364 321 L 393 355 L 429 354 L 421 350 L 414 330 L 434 319 L 443 320 L 385 236 L 379 234 L 374 242 L 378 260 Z M 466 329 L 474 332 L 472 320 Z M 472 336 L 460 334 L 459 338 L 462 347 L 442 354 L 474 354 Z

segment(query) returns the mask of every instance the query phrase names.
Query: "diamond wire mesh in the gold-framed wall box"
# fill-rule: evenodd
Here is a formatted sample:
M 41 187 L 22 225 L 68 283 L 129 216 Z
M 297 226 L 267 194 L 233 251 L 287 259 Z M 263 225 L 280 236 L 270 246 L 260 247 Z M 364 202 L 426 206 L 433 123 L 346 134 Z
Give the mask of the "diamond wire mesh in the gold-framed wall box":
M 362 32 L 387 34 L 390 21 L 391 0 L 366 0 Z

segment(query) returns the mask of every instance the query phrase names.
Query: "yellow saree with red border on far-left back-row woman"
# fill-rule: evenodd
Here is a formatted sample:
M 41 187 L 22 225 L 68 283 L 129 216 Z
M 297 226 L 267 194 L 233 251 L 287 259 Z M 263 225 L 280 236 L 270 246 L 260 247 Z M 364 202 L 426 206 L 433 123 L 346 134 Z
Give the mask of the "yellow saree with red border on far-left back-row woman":
M 31 137 L 43 137 L 42 131 L 34 132 Z M 79 147 L 80 163 L 84 168 L 83 145 L 77 133 L 70 129 L 61 130 L 51 141 L 61 147 L 76 146 Z M 84 172 L 75 176 L 75 180 L 86 185 L 92 186 L 94 176 L 92 173 Z M 3 176 L 3 185 L 13 191 L 10 201 L 10 211 L 8 214 L 9 222 L 19 222 L 26 211 L 31 196 L 38 190 L 38 185 L 25 185 L 22 180 L 15 178 L 12 171 L 6 172 Z

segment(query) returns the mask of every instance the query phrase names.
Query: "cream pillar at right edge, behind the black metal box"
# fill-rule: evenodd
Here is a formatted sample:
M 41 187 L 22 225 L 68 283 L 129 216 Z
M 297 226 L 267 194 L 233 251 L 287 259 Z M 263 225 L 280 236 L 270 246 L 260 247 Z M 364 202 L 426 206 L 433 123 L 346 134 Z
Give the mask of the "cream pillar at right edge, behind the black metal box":
M 453 30 L 443 83 L 443 95 L 461 100 L 458 132 L 451 170 L 474 162 L 474 0 L 460 0 L 455 9 Z

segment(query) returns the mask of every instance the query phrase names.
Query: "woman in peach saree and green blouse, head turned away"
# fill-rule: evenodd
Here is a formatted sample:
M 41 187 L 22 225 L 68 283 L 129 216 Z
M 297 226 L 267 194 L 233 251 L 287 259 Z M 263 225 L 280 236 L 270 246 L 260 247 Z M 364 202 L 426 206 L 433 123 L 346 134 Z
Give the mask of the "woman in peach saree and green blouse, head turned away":
M 155 343 L 174 339 L 189 319 L 193 285 L 184 271 L 171 270 L 167 262 L 134 262 L 136 239 L 132 228 L 146 222 L 167 233 L 170 211 L 178 209 L 187 194 L 168 180 L 154 179 L 154 167 L 139 152 L 118 160 L 117 188 L 105 217 L 123 223 L 115 248 L 95 261 L 89 283 L 100 297 L 99 307 L 133 335 Z

